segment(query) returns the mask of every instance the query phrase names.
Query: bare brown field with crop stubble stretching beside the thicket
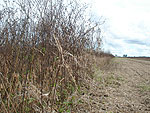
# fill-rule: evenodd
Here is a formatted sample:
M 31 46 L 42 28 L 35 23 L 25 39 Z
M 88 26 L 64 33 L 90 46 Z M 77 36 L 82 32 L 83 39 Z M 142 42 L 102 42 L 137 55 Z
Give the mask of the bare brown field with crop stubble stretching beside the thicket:
M 80 97 L 78 112 L 150 113 L 150 61 L 113 58 L 94 80 Z

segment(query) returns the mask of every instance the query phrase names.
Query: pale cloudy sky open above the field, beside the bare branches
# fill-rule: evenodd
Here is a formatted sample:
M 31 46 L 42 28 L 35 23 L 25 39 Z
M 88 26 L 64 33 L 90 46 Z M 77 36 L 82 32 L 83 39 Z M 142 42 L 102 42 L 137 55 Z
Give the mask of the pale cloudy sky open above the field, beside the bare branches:
M 114 55 L 150 56 L 150 0 L 88 0 L 102 26 L 104 50 Z

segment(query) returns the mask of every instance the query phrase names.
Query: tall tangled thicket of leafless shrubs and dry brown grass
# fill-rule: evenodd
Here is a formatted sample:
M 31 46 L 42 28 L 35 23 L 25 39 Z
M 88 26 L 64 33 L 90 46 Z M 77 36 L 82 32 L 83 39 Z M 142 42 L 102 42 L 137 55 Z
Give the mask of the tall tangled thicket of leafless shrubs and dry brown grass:
M 76 0 L 5 0 L 1 7 L 1 112 L 71 111 L 71 95 L 92 73 L 88 54 L 100 47 L 100 23 Z

